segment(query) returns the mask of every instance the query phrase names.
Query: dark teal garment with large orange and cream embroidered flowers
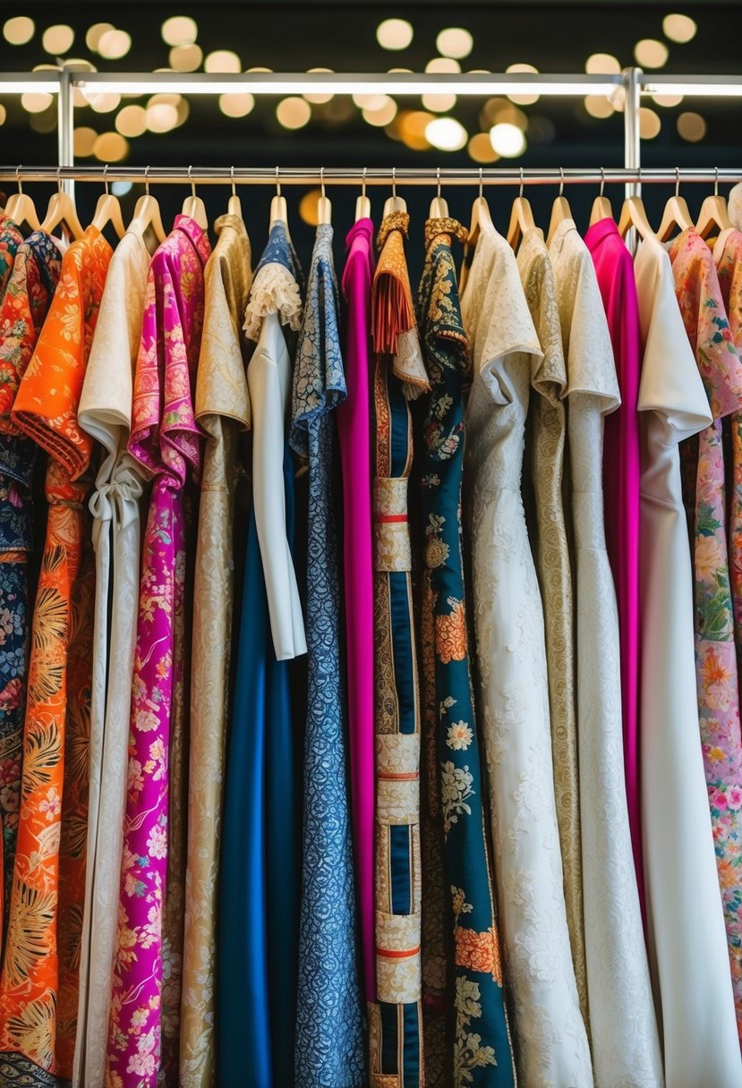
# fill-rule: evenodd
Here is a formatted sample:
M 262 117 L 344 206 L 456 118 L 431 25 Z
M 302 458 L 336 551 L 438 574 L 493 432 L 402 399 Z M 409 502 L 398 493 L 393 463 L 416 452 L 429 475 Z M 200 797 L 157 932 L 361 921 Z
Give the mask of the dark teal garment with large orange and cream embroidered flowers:
M 453 937 L 456 994 L 455 1031 L 446 1065 L 440 1071 L 444 1076 L 431 1068 L 429 1054 L 428 1084 L 466 1088 L 515 1085 L 516 1071 L 503 993 L 469 669 L 460 508 L 462 400 L 471 382 L 471 353 L 461 322 L 452 236 L 466 238 L 456 220 L 425 223 L 419 293 L 420 331 L 431 382 L 422 475 L 422 667 L 430 693 L 425 730 L 437 732 L 437 743 L 426 741 L 425 751 L 432 750 L 435 757 L 436 815 L 443 823 L 445 883 L 450 897 L 441 907 Z M 433 713 L 429 714 L 431 703 Z

